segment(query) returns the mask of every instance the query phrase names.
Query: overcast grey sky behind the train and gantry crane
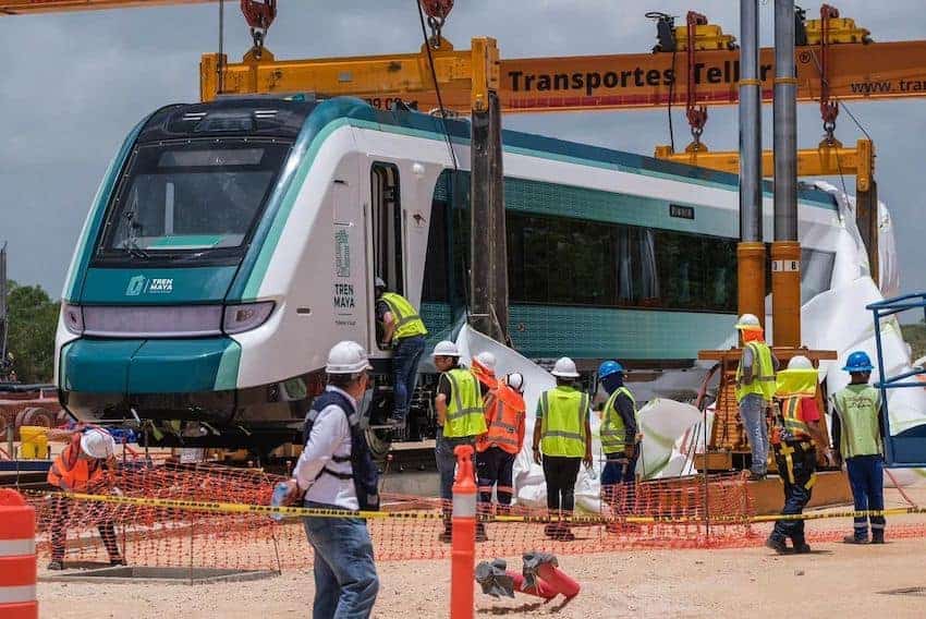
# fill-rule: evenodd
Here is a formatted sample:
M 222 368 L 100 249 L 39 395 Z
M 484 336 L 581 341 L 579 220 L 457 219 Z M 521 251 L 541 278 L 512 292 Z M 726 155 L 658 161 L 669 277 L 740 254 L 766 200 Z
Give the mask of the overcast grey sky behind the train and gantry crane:
M 251 38 L 239 3 L 226 4 L 226 49 L 234 61 Z M 875 40 L 926 38 L 923 0 L 836 4 Z M 503 58 L 645 52 L 655 43 L 646 11 L 697 10 L 735 35 L 738 7 L 735 0 L 458 0 L 444 36 L 461 49 L 473 36 L 496 37 Z M 804 7 L 813 15 L 818 5 Z M 760 2 L 760 19 L 768 46 L 771 0 Z M 218 5 L 0 17 L 0 242 L 9 241 L 11 278 L 60 295 L 90 201 L 125 133 L 160 106 L 195 101 L 199 57 L 217 46 Z M 281 0 L 267 46 L 278 59 L 416 51 L 415 1 Z M 895 222 L 902 288 L 926 290 L 926 101 L 850 106 L 877 146 L 880 197 Z M 799 146 L 811 147 L 820 138 L 819 114 L 814 105 L 799 110 Z M 709 114 L 705 142 L 711 149 L 735 148 L 735 108 Z M 690 139 L 684 110 L 674 118 L 680 147 Z M 647 155 L 668 139 L 665 110 L 510 116 L 505 126 Z M 840 114 L 837 136 L 854 144 L 862 135 Z

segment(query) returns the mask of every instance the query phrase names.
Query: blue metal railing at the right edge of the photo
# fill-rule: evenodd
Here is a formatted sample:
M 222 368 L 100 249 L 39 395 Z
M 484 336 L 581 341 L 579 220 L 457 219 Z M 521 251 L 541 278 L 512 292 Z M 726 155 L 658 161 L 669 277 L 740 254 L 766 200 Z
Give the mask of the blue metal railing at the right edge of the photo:
M 916 377 L 926 375 L 926 368 L 919 367 L 903 372 L 897 376 L 888 376 L 885 371 L 884 345 L 881 343 L 881 319 L 909 310 L 922 310 L 926 320 L 926 292 L 904 294 L 893 299 L 878 301 L 867 306 L 875 318 L 875 345 L 878 356 L 878 375 L 880 380 L 875 388 L 881 392 L 881 414 L 885 420 L 885 459 L 888 466 L 926 466 L 926 424 L 918 425 L 891 436 L 890 413 L 888 409 L 888 390 L 903 388 L 926 388 L 926 383 Z M 924 411 L 926 413 L 926 411 Z

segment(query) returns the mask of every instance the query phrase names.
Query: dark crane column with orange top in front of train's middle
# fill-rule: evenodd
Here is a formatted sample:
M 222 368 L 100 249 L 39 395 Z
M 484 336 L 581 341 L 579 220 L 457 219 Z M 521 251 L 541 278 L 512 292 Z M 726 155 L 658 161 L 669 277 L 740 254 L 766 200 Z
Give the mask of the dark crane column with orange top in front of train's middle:
M 473 39 L 471 222 L 471 324 L 508 338 L 508 247 L 501 145 L 499 61 L 495 39 Z

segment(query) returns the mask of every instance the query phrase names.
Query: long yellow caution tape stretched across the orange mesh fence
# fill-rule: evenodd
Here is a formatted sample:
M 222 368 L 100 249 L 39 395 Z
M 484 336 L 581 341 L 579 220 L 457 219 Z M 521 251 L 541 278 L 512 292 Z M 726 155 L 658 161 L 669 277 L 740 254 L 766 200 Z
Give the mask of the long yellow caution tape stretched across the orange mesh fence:
M 443 520 L 443 514 L 437 511 L 352 511 L 346 509 L 308 508 L 308 507 L 284 507 L 249 503 L 232 503 L 220 501 L 193 501 L 183 499 L 160 499 L 147 497 L 126 497 L 117 495 L 86 495 L 81 493 L 62 493 L 63 496 L 84 501 L 106 502 L 114 505 L 130 505 L 139 507 L 157 507 L 163 509 L 180 509 L 185 511 L 200 511 L 208 513 L 239 513 L 258 515 L 287 515 L 291 518 L 360 518 L 360 519 L 399 519 L 399 520 Z M 708 521 L 704 518 L 679 518 L 628 515 L 623 518 L 605 518 L 601 515 L 572 515 L 558 519 L 550 515 L 479 515 L 480 520 L 491 522 L 523 522 L 523 523 L 549 523 L 570 522 L 576 524 L 747 524 L 759 522 L 777 522 L 779 520 L 825 520 L 831 518 L 866 518 L 872 515 L 910 515 L 924 514 L 926 508 L 905 507 L 885 510 L 867 511 L 829 511 L 817 513 L 797 514 L 771 514 L 771 515 L 720 515 L 710 517 Z

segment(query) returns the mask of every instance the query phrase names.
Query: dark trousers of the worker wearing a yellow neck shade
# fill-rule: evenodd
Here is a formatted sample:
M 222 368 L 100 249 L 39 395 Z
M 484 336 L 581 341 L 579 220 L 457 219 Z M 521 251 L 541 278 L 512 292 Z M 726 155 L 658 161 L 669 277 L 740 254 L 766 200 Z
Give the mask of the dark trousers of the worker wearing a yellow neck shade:
M 817 451 L 807 441 L 787 441 L 775 446 L 775 462 L 784 483 L 782 514 L 803 513 L 811 501 L 811 489 L 816 481 Z M 771 536 L 776 539 L 791 537 L 794 544 L 804 543 L 803 520 L 779 520 Z

